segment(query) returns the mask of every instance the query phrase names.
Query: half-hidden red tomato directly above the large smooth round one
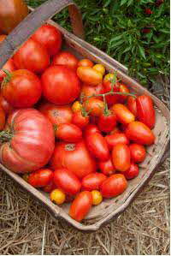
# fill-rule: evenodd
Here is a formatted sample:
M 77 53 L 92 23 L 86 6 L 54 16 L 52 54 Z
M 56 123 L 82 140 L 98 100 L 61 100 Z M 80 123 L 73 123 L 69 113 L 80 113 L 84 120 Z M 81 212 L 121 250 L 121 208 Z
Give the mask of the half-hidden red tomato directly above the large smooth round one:
M 76 71 L 79 60 L 69 51 L 61 51 L 54 58 L 52 65 L 65 65 Z

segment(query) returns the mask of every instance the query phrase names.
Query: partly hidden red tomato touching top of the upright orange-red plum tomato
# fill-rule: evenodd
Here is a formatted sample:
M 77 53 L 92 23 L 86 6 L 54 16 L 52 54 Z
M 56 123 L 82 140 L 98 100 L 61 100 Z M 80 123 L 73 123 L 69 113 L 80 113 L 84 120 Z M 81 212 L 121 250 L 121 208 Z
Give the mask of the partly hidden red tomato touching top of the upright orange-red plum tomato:
M 107 135 L 105 136 L 105 139 L 108 143 L 109 150 L 112 150 L 113 147 L 119 143 L 127 144 L 127 145 L 129 144 L 129 140 L 127 139 L 126 134 L 122 134 L 122 133 Z

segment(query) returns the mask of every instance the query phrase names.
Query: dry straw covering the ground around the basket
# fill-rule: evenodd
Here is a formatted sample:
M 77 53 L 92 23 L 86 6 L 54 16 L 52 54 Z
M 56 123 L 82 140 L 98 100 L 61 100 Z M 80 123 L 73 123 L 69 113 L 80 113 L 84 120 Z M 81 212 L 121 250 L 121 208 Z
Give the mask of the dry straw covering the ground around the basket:
M 167 83 L 168 84 L 168 83 Z M 168 86 L 157 96 L 168 104 Z M 82 233 L 55 223 L 0 172 L 0 254 L 169 254 L 169 159 L 133 204 L 102 229 Z

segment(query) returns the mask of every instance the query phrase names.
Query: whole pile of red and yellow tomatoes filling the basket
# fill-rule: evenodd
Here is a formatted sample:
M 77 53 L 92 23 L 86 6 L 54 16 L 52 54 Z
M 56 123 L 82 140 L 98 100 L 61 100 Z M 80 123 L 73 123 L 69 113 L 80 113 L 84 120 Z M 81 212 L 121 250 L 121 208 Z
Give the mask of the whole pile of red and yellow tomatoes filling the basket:
M 102 64 L 61 48 L 62 34 L 44 24 L 0 71 L 0 161 L 57 205 L 72 202 L 80 222 L 139 175 L 155 109 Z

